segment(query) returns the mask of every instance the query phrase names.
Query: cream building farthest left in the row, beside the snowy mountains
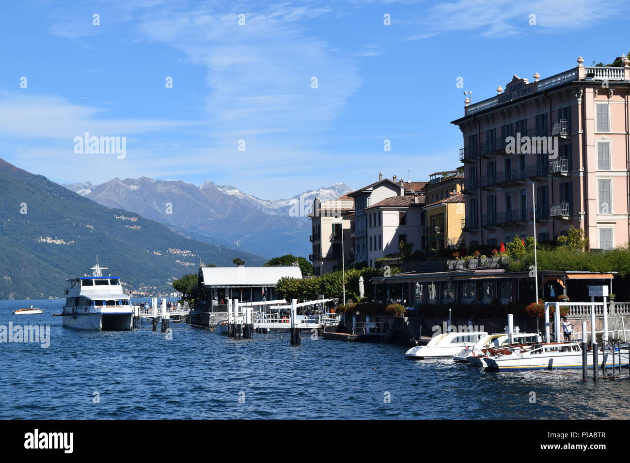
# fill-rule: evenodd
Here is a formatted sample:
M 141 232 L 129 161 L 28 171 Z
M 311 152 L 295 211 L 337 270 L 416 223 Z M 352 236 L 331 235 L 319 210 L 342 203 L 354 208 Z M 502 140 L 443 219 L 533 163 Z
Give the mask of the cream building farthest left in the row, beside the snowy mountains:
M 313 202 L 312 212 L 307 215 L 311 220 L 312 254 L 309 260 L 313 264 L 313 275 L 341 270 L 350 263 L 352 251 L 350 216 L 354 212 L 354 200 L 342 196 L 336 200 Z

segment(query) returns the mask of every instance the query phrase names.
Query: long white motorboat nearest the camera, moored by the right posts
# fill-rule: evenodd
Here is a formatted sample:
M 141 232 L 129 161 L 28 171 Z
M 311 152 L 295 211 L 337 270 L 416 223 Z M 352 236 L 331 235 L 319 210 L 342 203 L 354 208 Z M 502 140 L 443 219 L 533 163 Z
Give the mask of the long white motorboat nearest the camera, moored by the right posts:
M 612 367 L 613 354 L 616 366 L 628 365 L 627 350 L 620 353 L 609 347 L 600 348 L 600 366 Z M 588 368 L 592 369 L 592 352 L 588 352 L 587 359 Z M 468 357 L 468 361 L 488 371 L 581 369 L 582 348 L 578 341 L 500 346 L 488 348 L 484 355 Z

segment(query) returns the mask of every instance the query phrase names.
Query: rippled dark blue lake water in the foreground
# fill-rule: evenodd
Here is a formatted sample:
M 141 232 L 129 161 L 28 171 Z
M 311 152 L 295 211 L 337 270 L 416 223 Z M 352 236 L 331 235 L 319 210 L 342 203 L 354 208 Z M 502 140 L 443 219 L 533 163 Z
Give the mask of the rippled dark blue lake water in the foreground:
M 11 314 L 30 304 L 45 312 Z M 595 385 L 581 381 L 581 370 L 486 373 L 406 360 L 403 346 L 306 333 L 290 346 L 289 333 L 231 340 L 178 323 L 172 340 L 150 323 L 80 331 L 52 316 L 63 304 L 0 301 L 0 325 L 50 326 L 48 348 L 0 343 L 0 418 L 630 418 L 627 379 Z

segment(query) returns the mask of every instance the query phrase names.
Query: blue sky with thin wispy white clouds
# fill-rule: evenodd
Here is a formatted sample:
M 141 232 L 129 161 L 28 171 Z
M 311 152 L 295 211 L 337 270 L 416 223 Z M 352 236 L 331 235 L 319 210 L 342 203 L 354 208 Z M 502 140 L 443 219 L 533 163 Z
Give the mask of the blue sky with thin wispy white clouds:
M 427 180 L 459 165 L 464 90 L 479 101 L 512 74 L 612 62 L 630 50 L 629 13 L 611 0 L 6 3 L 0 157 L 60 183 L 212 180 L 261 198 L 379 171 Z M 127 156 L 75 154 L 84 132 L 127 137 Z

